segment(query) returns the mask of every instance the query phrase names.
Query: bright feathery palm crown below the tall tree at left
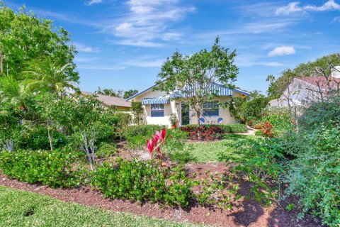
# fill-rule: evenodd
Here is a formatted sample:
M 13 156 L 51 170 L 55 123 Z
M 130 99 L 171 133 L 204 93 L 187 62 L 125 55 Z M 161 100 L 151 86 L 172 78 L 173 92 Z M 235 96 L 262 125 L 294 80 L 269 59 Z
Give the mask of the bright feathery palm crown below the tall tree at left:
M 28 63 L 23 71 L 28 89 L 32 92 L 52 92 L 63 96 L 71 90 L 77 91 L 77 82 L 67 76 L 70 64 L 58 65 L 50 57 L 38 58 Z

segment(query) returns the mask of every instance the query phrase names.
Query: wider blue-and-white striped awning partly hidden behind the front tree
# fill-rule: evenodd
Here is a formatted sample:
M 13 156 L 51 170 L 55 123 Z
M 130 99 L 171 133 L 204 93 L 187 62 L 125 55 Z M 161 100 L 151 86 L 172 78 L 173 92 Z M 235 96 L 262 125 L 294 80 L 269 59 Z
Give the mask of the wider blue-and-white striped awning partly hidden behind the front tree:
M 221 84 L 212 83 L 208 85 L 208 89 L 210 89 L 210 94 L 215 94 L 217 96 L 232 96 L 232 89 L 229 89 L 229 87 L 225 87 Z M 193 87 L 189 85 L 183 87 L 183 89 L 181 90 L 176 90 L 172 92 L 170 94 L 170 98 L 188 98 L 190 96 L 193 96 L 193 94 Z

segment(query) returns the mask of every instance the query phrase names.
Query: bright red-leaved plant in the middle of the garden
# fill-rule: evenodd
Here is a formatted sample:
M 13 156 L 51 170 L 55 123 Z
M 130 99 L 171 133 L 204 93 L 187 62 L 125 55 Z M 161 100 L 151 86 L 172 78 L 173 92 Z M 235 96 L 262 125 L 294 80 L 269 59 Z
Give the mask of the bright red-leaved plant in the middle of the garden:
M 157 152 L 159 159 L 164 159 L 165 155 L 165 141 L 166 141 L 166 129 L 163 128 L 162 132 L 156 131 L 156 135 L 152 134 L 152 138 L 147 139 L 147 146 L 142 146 L 144 150 L 150 154 L 151 158 L 154 157 L 153 153 Z M 163 145 L 163 151 L 160 146 Z

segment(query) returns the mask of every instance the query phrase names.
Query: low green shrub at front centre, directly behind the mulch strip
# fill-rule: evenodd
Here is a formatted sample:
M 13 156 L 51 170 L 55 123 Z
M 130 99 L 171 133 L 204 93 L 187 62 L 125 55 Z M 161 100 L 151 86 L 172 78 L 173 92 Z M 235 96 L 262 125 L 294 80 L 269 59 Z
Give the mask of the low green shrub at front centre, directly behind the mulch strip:
M 92 184 L 106 197 L 188 206 L 193 182 L 181 167 L 164 168 L 157 162 L 120 160 L 117 166 L 104 162 L 93 173 Z

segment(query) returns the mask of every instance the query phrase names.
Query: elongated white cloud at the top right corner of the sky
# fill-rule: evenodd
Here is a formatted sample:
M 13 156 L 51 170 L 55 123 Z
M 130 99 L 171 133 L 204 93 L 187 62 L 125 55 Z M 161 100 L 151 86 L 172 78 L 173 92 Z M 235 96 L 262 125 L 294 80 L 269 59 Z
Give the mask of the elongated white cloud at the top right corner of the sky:
M 287 6 L 281 6 L 276 9 L 276 15 L 288 15 L 290 13 L 305 12 L 305 11 L 332 11 L 340 10 L 340 5 L 334 0 L 329 0 L 325 2 L 322 6 L 306 5 L 300 6 L 300 2 L 293 1 Z

